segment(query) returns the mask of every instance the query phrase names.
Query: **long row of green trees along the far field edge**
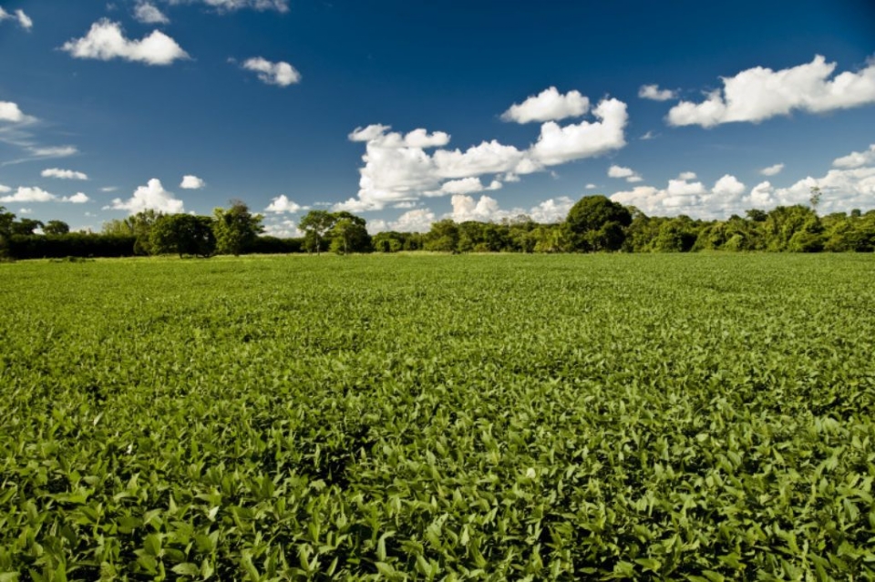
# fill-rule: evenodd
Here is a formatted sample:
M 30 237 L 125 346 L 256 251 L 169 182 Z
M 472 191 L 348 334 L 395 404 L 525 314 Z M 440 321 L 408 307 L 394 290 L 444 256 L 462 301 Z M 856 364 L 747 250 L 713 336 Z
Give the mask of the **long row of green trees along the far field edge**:
M 650 217 L 601 195 L 580 199 L 565 220 L 541 224 L 526 215 L 499 222 L 438 220 L 427 232 L 368 234 L 365 219 L 349 212 L 311 210 L 299 222 L 300 238 L 265 236 L 263 217 L 240 200 L 212 216 L 162 214 L 145 210 L 110 220 L 98 234 L 70 232 L 66 223 L 17 219 L 0 207 L 0 257 L 122 257 L 179 254 L 335 252 L 690 252 L 765 250 L 788 252 L 871 252 L 875 210 L 819 216 L 819 192 L 809 206 L 750 209 L 726 220 L 688 216 Z M 36 230 L 42 234 L 36 234 Z

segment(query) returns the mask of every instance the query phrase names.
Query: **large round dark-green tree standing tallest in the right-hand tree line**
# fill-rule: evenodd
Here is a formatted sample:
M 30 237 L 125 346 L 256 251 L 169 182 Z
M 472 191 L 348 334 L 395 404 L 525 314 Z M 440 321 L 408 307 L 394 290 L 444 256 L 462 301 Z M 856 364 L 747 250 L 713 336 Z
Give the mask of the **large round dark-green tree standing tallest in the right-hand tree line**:
M 607 197 L 585 196 L 571 207 L 565 221 L 576 250 L 620 250 L 632 213 Z

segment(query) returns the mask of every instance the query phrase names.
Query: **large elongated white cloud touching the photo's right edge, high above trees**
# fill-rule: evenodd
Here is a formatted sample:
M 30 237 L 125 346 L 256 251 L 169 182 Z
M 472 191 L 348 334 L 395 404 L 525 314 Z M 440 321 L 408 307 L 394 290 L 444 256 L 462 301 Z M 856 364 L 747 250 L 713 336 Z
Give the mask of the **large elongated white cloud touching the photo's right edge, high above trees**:
M 835 63 L 815 56 L 805 65 L 773 71 L 756 66 L 735 77 L 722 77 L 724 87 L 705 101 L 682 101 L 668 112 L 673 126 L 712 128 L 721 123 L 757 123 L 794 110 L 820 113 L 875 103 L 875 61 L 857 73 L 832 77 Z M 832 78 L 830 78 L 832 77 Z

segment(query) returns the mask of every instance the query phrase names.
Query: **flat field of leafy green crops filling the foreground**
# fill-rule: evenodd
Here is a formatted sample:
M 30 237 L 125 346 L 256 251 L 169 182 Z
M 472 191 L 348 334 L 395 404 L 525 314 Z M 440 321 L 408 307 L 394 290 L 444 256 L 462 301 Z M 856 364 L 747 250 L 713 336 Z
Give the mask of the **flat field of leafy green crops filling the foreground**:
M 875 258 L 0 264 L 0 580 L 867 580 Z

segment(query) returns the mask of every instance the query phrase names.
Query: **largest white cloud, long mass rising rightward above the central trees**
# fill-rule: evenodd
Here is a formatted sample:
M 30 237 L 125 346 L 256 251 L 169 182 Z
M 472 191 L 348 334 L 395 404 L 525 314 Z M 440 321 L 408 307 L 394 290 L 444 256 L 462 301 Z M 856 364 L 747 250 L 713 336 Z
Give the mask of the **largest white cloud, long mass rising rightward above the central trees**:
M 580 158 L 590 158 L 625 144 L 623 128 L 626 106 L 605 99 L 592 111 L 596 121 L 582 121 L 561 127 L 544 123 L 540 138 L 520 149 L 496 139 L 467 149 L 448 149 L 449 135 L 428 133 L 418 128 L 407 134 L 391 131 L 382 124 L 355 128 L 348 138 L 365 143 L 364 168 L 360 169 L 358 197 L 335 209 L 367 211 L 386 204 L 417 200 L 422 196 L 470 194 L 499 189 L 503 181 Z M 437 148 L 433 152 L 429 148 Z M 491 175 L 489 186 L 481 176 Z

